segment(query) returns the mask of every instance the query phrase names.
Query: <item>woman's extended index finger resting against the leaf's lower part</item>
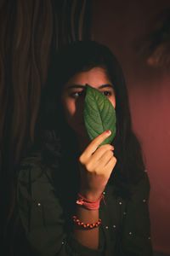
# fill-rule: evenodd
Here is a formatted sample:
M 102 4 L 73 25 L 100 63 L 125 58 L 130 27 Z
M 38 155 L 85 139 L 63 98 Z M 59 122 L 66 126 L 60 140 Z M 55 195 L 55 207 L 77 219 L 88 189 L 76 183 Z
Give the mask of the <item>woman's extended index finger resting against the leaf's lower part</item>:
M 94 151 L 99 147 L 101 143 L 105 141 L 107 137 L 111 136 L 111 131 L 107 130 L 99 134 L 99 136 L 95 137 L 94 140 L 88 145 L 86 148 L 87 156 L 94 153 Z

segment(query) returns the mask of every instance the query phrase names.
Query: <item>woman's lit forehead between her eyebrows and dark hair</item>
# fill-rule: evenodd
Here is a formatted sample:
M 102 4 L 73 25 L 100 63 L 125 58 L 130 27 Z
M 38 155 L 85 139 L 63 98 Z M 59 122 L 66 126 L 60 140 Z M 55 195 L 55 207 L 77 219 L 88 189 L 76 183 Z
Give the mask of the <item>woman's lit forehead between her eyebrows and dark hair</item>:
M 102 67 L 94 67 L 88 71 L 76 73 L 68 82 L 65 84 L 65 88 L 71 84 L 89 84 L 94 87 L 98 87 L 101 84 L 111 84 L 105 69 Z

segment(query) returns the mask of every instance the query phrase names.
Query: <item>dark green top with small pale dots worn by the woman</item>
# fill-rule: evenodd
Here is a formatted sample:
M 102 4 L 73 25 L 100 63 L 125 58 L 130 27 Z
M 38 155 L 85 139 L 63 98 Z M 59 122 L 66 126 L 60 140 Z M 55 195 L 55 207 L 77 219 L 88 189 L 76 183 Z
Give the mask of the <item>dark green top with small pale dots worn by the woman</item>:
M 147 173 L 127 200 L 114 194 L 113 185 L 106 186 L 99 208 L 99 250 L 93 250 L 72 235 L 78 186 L 71 163 L 65 168 L 44 166 L 41 154 L 21 162 L 17 202 L 31 256 L 151 256 Z

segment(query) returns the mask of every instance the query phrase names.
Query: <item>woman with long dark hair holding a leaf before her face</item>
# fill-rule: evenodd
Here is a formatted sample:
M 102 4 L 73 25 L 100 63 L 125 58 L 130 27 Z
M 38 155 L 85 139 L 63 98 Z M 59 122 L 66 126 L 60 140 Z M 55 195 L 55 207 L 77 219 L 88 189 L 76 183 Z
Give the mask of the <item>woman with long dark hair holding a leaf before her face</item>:
M 110 131 L 88 137 L 86 84 L 116 109 L 111 144 L 100 146 Z M 37 124 L 37 143 L 17 176 L 20 222 L 31 253 L 152 255 L 150 183 L 122 69 L 110 49 L 75 42 L 54 55 Z

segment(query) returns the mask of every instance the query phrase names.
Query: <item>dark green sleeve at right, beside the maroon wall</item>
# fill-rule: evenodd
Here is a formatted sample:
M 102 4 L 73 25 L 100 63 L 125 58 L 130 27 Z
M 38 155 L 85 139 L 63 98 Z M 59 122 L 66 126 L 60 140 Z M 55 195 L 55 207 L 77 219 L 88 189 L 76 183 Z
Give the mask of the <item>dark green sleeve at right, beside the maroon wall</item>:
M 127 201 L 122 224 L 122 255 L 153 255 L 150 240 L 149 212 L 150 182 L 147 173 L 133 188 L 133 196 Z

